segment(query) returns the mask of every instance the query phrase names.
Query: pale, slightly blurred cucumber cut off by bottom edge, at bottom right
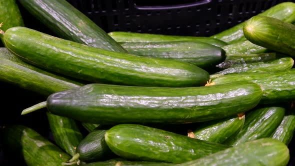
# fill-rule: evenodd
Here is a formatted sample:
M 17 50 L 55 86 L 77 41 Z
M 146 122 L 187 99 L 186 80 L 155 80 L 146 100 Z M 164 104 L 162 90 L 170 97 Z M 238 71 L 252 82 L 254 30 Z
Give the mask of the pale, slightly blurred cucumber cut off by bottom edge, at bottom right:
M 289 149 L 285 144 L 272 138 L 260 138 L 218 151 L 199 159 L 178 164 L 178 166 L 283 166 L 287 165 L 289 159 Z

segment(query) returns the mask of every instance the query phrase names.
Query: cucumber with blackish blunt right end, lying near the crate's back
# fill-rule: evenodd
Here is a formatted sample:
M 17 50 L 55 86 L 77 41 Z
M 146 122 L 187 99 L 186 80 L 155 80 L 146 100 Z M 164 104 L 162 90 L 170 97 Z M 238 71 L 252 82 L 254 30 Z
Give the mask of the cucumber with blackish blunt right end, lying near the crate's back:
M 222 48 L 200 41 L 124 42 L 121 45 L 132 54 L 185 61 L 201 68 L 225 59 Z

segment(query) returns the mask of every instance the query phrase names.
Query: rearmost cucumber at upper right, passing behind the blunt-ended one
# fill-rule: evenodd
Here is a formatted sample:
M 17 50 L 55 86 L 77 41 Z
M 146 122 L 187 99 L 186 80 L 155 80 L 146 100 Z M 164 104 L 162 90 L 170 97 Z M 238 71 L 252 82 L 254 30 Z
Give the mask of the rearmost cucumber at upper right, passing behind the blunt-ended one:
M 292 21 L 295 21 L 295 3 L 282 2 L 268 8 L 258 15 L 270 16 L 291 23 Z M 244 41 L 246 40 L 242 30 L 244 24 L 245 21 L 224 31 L 221 31 L 220 33 L 214 34 L 211 37 L 220 39 L 229 44 Z

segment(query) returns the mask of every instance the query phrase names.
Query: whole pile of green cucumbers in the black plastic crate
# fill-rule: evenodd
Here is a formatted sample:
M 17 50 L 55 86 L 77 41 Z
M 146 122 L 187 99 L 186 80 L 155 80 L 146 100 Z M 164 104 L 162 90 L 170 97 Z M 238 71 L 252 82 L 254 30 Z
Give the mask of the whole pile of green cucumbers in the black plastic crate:
M 54 35 L 26 27 L 18 5 Z M 0 81 L 46 98 L 11 111 L 43 112 L 54 139 L 1 126 L 3 151 L 26 165 L 288 164 L 295 3 L 208 37 L 106 33 L 66 0 L 0 9 Z

